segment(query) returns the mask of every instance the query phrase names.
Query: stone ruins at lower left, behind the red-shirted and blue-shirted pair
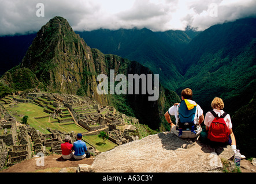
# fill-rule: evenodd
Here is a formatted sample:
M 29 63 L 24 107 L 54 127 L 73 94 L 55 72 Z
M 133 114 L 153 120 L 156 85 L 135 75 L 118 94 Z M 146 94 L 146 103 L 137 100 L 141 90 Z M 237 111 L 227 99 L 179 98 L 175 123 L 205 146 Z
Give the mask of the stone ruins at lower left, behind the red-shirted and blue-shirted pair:
M 64 143 L 63 140 L 66 135 L 71 136 L 71 143 L 76 141 L 76 135 L 73 132 L 64 133 L 47 128 L 51 133 L 42 134 L 29 125 L 21 125 L 15 129 L 15 131 L 17 130 L 19 130 L 18 135 L 16 135 L 18 141 L 15 143 L 9 139 L 4 139 L 3 136 L 0 137 L 0 169 L 6 165 L 31 159 L 33 155 L 39 153 L 48 155 L 50 152 L 47 151 L 47 147 L 52 153 L 61 154 L 61 144 Z M 95 147 L 87 145 L 87 148 L 89 152 L 95 154 Z

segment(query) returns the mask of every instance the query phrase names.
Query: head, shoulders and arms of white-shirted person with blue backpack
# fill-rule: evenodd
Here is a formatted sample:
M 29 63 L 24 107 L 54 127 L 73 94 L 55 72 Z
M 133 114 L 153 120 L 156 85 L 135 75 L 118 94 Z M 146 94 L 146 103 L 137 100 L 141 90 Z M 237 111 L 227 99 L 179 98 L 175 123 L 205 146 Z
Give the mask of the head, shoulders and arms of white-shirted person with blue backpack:
M 194 124 L 196 124 L 197 121 L 198 121 L 199 124 L 201 124 L 203 122 L 203 120 L 204 120 L 203 110 L 202 110 L 202 108 L 198 104 L 196 104 L 195 101 L 192 100 L 192 90 L 189 89 L 189 88 L 182 90 L 181 91 L 181 99 L 182 99 L 182 101 L 185 101 L 185 104 L 187 106 L 192 106 L 192 108 L 194 108 L 194 106 L 196 106 L 197 110 L 196 110 L 195 116 L 194 116 Z M 167 122 L 169 122 L 171 130 L 173 128 L 175 128 L 175 124 L 173 124 L 172 120 L 170 119 L 170 116 L 175 116 L 175 118 L 176 118 L 176 125 L 177 125 L 177 123 L 179 121 L 179 117 L 178 117 L 179 105 L 180 105 L 179 103 L 174 104 L 165 113 L 165 119 L 166 119 Z

